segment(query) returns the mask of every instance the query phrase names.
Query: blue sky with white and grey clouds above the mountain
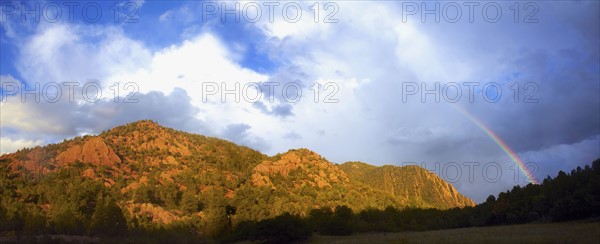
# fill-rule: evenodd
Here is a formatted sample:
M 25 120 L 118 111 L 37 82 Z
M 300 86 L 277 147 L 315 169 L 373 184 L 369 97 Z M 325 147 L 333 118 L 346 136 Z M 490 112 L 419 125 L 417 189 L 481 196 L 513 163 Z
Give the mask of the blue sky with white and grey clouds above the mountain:
M 1 1 L 0 153 L 152 119 L 482 202 L 600 157 L 599 25 L 597 1 Z

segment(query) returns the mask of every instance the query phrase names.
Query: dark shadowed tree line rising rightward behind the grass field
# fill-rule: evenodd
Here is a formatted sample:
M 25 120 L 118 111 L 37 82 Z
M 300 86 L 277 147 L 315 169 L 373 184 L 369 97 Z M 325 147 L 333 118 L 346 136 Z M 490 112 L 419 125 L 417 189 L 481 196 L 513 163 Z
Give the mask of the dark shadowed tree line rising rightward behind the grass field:
M 320 208 L 308 216 L 284 214 L 242 222 L 227 241 L 289 242 L 312 233 L 351 235 L 359 232 L 426 231 L 450 228 L 557 222 L 600 217 L 600 159 L 592 166 L 560 171 L 539 185 L 514 186 L 474 207 L 448 210 L 387 207 L 353 212 L 346 206 Z

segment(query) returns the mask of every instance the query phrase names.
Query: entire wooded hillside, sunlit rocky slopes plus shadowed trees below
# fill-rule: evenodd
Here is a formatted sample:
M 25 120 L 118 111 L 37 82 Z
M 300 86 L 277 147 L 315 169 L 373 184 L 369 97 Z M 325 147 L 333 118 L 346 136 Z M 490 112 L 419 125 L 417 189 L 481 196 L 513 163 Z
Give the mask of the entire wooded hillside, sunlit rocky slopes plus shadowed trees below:
M 289 242 L 600 217 L 600 160 L 475 206 L 420 167 L 267 156 L 152 121 L 3 155 L 0 185 L 5 237 Z

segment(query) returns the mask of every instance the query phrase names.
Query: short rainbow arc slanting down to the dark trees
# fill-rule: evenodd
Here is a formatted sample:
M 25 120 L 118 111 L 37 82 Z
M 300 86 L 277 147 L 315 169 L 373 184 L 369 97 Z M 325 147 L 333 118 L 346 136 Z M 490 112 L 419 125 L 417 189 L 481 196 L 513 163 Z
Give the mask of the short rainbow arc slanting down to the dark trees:
M 483 122 L 481 122 L 481 120 L 477 119 L 475 116 L 473 116 L 472 114 L 470 114 L 464 108 L 462 108 L 462 107 L 460 107 L 459 105 L 456 105 L 456 104 L 452 104 L 452 105 L 453 105 L 452 107 L 454 107 L 456 110 L 458 110 L 463 115 L 465 115 L 469 120 L 471 120 L 471 122 L 473 122 L 475 125 L 477 125 L 477 127 L 479 127 L 490 138 L 492 138 L 492 140 L 498 146 L 500 146 L 500 148 L 508 155 L 508 157 L 510 157 L 514 162 L 516 162 L 519 165 L 519 169 L 521 169 L 521 171 L 523 172 L 523 174 L 525 174 L 525 176 L 527 177 L 527 179 L 529 180 L 529 182 L 531 182 L 533 184 L 539 184 L 539 181 L 538 181 L 537 178 L 535 178 L 535 176 L 533 175 L 533 172 L 531 172 L 531 171 L 528 170 L 527 165 L 525 165 L 525 163 L 523 163 L 523 160 L 519 157 L 519 155 L 517 155 L 517 153 L 515 153 L 506 144 L 506 142 L 504 142 L 502 140 L 502 138 L 500 138 L 500 136 L 496 135 L 496 133 L 494 133 L 494 131 L 492 131 L 490 128 L 488 128 L 487 126 L 485 126 L 485 124 L 483 124 Z

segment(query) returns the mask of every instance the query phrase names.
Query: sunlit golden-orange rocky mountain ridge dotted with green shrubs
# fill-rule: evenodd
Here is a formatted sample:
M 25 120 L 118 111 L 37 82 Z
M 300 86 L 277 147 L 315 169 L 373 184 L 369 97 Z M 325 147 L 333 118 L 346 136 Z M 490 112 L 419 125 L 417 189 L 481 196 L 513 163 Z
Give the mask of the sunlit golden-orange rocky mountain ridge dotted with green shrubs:
M 308 149 L 267 156 L 149 120 L 2 155 L 0 174 L 0 218 L 27 225 L 37 216 L 73 233 L 89 225 L 101 202 L 118 205 L 132 228 L 185 223 L 206 233 L 338 205 L 474 205 L 420 167 L 337 165 Z

